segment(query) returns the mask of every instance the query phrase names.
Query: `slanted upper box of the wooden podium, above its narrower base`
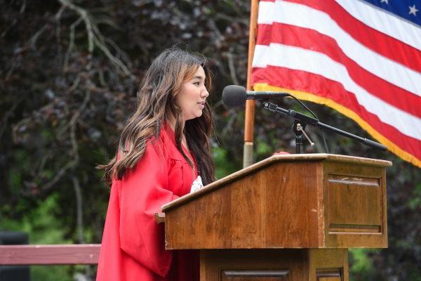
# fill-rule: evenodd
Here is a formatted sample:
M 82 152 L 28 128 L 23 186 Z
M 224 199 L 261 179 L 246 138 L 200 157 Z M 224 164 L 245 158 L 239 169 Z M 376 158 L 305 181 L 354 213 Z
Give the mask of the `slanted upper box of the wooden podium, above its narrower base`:
M 166 248 L 387 247 L 389 165 L 340 155 L 271 157 L 164 205 Z

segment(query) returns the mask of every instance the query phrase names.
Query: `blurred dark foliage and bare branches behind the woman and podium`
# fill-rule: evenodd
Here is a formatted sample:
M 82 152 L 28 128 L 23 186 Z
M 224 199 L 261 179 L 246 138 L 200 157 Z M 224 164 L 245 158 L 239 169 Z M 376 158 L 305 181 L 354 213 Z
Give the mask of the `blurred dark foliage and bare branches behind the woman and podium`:
M 0 230 L 32 244 L 100 243 L 109 188 L 96 164 L 115 152 L 143 72 L 178 44 L 206 55 L 215 74 L 213 157 L 218 178 L 241 169 L 242 110 L 222 106 L 227 84 L 246 84 L 249 1 L 1 1 Z M 302 110 L 291 100 L 279 105 Z M 327 124 L 370 137 L 328 107 Z M 255 160 L 294 152 L 292 122 L 260 104 Z M 325 152 L 321 134 L 305 152 Z M 421 280 L 420 169 L 326 133 L 331 153 L 389 159 L 389 249 L 350 251 L 352 280 Z M 33 280 L 89 280 L 95 266 L 32 266 Z

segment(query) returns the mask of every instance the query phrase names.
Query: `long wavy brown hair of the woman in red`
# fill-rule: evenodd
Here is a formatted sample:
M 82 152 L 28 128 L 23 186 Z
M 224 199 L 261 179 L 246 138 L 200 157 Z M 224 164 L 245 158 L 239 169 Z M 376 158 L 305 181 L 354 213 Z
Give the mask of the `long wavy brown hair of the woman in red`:
M 193 166 L 192 161 L 182 150 L 184 131 L 187 145 L 196 159 L 203 185 L 214 181 L 214 166 L 210 155 L 212 131 L 210 107 L 206 103 L 201 117 L 187 120 L 183 124 L 182 111 L 175 103 L 175 96 L 180 93 L 182 85 L 193 78 L 199 66 L 205 70 L 205 86 L 210 91 L 211 74 L 203 56 L 171 48 L 155 58 L 142 79 L 136 111 L 124 126 L 115 157 L 108 164 L 98 166 L 99 169 L 105 169 L 107 183 L 112 183 L 113 178 L 123 178 L 127 171 L 133 169 L 145 155 L 147 140 L 152 136 L 159 136 L 163 123 L 170 113 L 175 117 L 175 143 L 178 150 Z

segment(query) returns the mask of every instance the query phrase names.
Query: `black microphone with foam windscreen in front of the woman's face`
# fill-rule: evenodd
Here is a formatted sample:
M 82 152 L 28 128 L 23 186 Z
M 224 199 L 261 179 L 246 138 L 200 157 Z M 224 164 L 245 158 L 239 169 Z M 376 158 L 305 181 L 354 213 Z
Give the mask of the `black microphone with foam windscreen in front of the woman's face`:
M 222 91 L 222 102 L 229 107 L 236 107 L 246 103 L 246 100 L 270 100 L 290 96 L 289 93 L 271 91 L 246 91 L 238 85 L 229 85 Z

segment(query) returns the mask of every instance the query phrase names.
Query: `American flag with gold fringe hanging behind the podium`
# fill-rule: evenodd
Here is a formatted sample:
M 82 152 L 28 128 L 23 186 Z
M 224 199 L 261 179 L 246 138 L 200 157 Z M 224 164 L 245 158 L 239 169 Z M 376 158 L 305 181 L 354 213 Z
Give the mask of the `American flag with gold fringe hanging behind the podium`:
M 251 84 L 354 119 L 421 167 L 421 1 L 260 1 Z

